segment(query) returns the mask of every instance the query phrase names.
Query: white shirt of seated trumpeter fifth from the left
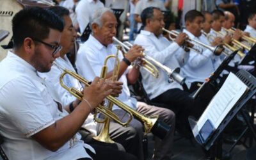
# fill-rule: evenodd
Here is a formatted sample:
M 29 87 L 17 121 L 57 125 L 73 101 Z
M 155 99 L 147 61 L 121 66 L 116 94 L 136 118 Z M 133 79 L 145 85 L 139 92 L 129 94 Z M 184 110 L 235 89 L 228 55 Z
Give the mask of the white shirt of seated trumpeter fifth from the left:
M 189 38 L 203 42 L 202 36 L 196 37 L 188 30 L 184 29 Z M 189 60 L 182 67 L 182 71 L 186 75 L 186 84 L 190 87 L 190 84 L 193 82 L 204 82 L 205 78 L 209 77 L 212 72 L 214 72 L 214 62 L 212 57 L 214 54 L 209 49 L 202 48 L 203 52 L 198 53 L 193 50 L 190 50 Z

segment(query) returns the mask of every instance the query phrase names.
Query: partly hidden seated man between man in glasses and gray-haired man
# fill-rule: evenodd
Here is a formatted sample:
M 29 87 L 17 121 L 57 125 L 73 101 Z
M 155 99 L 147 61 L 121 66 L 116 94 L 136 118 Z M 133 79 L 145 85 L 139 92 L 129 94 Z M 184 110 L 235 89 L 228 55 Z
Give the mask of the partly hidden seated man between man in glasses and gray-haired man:
M 60 45 L 62 46 L 62 49 L 60 51 L 60 57 L 56 58 L 55 61 L 62 67 L 65 67 L 68 70 L 72 70 L 73 72 L 76 72 L 66 55 L 68 52 L 70 52 L 74 48 L 74 40 L 76 38 L 76 31 L 74 30 L 72 26 L 72 21 L 68 16 L 69 11 L 66 8 L 63 8 L 60 6 L 53 6 L 49 8 L 49 10 L 59 15 L 61 19 L 63 19 L 65 22 L 64 29 L 61 33 L 61 39 L 60 39 Z M 77 100 L 76 100 L 76 97 L 74 97 L 70 92 L 65 90 L 65 88 L 63 88 L 60 85 L 60 76 L 62 73 L 63 72 L 60 70 L 60 68 L 56 67 L 56 65 L 53 65 L 51 67 L 50 72 L 39 73 L 39 75 L 40 77 L 44 77 L 46 81 L 51 81 L 51 83 L 54 84 L 54 90 L 56 90 L 56 92 L 58 92 L 58 95 L 60 95 L 62 104 L 69 105 L 69 109 L 74 110 L 73 106 L 77 106 Z M 80 90 L 82 88 L 79 81 L 72 76 L 69 76 L 69 75 L 64 76 L 63 81 L 65 84 L 67 84 L 68 87 L 74 87 L 77 90 Z M 106 82 L 111 83 L 112 81 L 106 81 Z M 115 93 L 114 96 L 117 96 L 122 89 L 122 83 L 117 81 L 109 85 L 115 85 L 113 86 L 113 88 L 116 88 L 116 90 L 113 90 L 113 92 Z M 88 115 L 88 118 L 86 118 L 86 121 L 82 126 L 83 129 L 79 131 L 82 135 L 82 140 L 84 142 L 89 144 L 99 143 L 98 141 L 95 141 L 93 139 L 93 136 L 97 135 L 97 128 L 99 128 L 96 125 L 97 124 L 93 120 L 93 115 L 92 114 Z M 109 135 L 113 141 L 116 141 L 122 144 L 126 152 L 129 152 L 131 154 L 138 156 L 139 142 L 138 142 L 138 138 L 136 137 L 138 135 L 136 134 L 136 131 L 132 127 L 122 127 L 116 122 L 111 122 L 109 124 Z M 113 145 L 112 143 L 106 143 L 104 145 L 116 148 L 115 143 Z M 119 145 L 117 144 L 117 148 L 122 149 L 122 146 L 119 147 Z

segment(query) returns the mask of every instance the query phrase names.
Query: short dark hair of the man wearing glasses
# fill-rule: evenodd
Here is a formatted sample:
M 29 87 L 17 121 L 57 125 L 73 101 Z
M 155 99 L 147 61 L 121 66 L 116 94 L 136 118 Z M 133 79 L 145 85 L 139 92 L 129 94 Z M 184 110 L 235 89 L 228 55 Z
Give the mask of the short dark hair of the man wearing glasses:
M 44 40 L 49 31 L 63 31 L 63 20 L 58 15 L 39 7 L 25 8 L 16 13 L 12 19 L 13 47 L 20 47 L 26 37 Z

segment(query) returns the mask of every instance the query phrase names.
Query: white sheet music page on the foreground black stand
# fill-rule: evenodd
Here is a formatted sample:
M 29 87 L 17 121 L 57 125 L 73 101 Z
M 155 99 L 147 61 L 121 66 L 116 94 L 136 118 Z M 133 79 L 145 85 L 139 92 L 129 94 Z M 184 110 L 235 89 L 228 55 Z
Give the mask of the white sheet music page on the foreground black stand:
M 230 72 L 225 83 L 221 86 L 219 92 L 211 100 L 203 115 L 198 120 L 198 131 L 200 131 L 207 119 L 209 119 L 214 125 L 214 128 L 217 129 L 230 109 L 232 109 L 246 90 L 248 90 L 246 84 Z

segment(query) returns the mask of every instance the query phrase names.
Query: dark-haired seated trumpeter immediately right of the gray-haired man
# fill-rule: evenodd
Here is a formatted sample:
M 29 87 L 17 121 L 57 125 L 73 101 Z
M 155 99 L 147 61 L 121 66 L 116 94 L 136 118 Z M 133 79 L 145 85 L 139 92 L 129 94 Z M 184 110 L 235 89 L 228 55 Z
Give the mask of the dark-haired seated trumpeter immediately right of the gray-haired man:
M 184 65 L 188 60 L 189 53 L 180 47 L 184 44 L 187 35 L 180 33 L 170 43 L 162 35 L 163 19 L 163 13 L 159 8 L 148 7 L 143 10 L 141 20 L 144 28 L 136 37 L 134 44 L 141 45 L 145 49 L 145 54 L 159 61 L 159 63 L 174 69 Z M 170 83 L 168 81 L 169 77 L 166 76 L 163 69 L 158 68 L 158 70 L 159 77 L 156 79 L 143 68 L 140 69 L 143 87 L 152 102 L 166 104 L 166 107 L 175 112 L 177 116 L 176 126 L 184 134 L 187 131 L 186 129 L 189 129 L 188 115 L 191 113 L 191 108 L 200 106 L 200 104 L 191 99 L 189 93 L 184 92 L 179 83 L 176 81 Z M 197 116 L 200 116 L 200 114 Z

